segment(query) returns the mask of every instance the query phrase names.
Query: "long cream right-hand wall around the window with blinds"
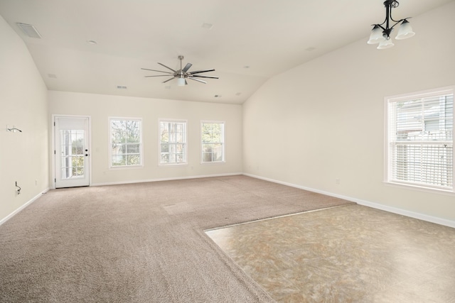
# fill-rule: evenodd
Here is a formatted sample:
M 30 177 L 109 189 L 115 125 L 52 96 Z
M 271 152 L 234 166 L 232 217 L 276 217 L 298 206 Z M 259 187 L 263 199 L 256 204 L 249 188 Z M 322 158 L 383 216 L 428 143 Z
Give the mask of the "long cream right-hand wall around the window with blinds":
M 387 50 L 367 45 L 365 28 L 365 39 L 269 79 L 243 106 L 244 172 L 455 226 L 455 195 L 383 183 L 384 97 L 455 85 L 453 16 L 455 1 L 415 16 L 416 35 Z

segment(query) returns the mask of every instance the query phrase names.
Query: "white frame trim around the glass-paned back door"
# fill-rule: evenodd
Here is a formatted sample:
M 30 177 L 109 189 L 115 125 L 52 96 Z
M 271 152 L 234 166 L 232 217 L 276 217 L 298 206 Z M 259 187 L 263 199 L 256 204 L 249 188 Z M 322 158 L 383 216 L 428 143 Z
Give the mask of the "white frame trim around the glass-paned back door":
M 88 186 L 92 186 L 92 116 L 82 116 L 82 115 L 60 115 L 60 114 L 52 114 L 52 119 L 50 119 L 50 128 L 52 129 L 52 140 L 50 141 L 50 171 L 52 172 L 50 180 L 51 187 L 50 189 L 55 189 L 55 118 L 87 118 L 88 119 L 88 133 L 87 133 L 87 142 L 89 145 L 89 152 L 90 157 L 86 157 L 88 161 Z

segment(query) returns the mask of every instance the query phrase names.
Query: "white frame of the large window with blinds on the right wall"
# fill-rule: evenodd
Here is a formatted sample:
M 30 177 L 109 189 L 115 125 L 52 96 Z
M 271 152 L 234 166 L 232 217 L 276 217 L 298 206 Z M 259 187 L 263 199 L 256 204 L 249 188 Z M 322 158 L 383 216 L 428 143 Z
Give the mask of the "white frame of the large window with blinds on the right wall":
M 451 138 L 448 138 L 447 140 L 434 140 L 434 141 L 424 141 L 424 140 L 419 140 L 419 141 L 412 141 L 412 140 L 406 140 L 406 141 L 400 141 L 399 138 L 396 138 L 394 135 L 395 132 L 395 126 L 393 121 L 396 121 L 396 118 L 392 115 L 394 113 L 392 112 L 392 105 L 393 103 L 400 102 L 400 101 L 411 101 L 411 100 L 416 100 L 416 99 L 424 99 L 424 98 L 430 98 L 430 97 L 438 97 L 438 96 L 443 96 L 447 94 L 454 94 L 455 92 L 455 86 L 452 87 L 442 87 L 439 89 L 431 89 L 427 91 L 422 91 L 422 92 L 414 92 L 410 94 L 401 94 L 397 96 L 392 96 L 392 97 L 385 97 L 385 183 L 387 184 L 393 184 L 397 186 L 403 186 L 407 188 L 414 188 L 414 189 L 422 189 L 426 191 L 437 191 L 437 192 L 445 192 L 449 194 L 454 194 L 455 193 L 455 184 L 454 184 L 454 173 L 455 173 L 455 151 L 454 151 L 454 134 L 455 134 L 455 124 L 452 123 L 452 129 L 451 129 Z M 452 109 L 454 111 L 454 116 L 455 116 L 455 109 Z M 426 120 L 423 120 L 423 123 Z M 449 149 L 451 148 L 451 153 L 449 153 L 448 157 L 451 157 L 451 167 L 449 166 L 449 174 L 451 177 L 451 184 L 447 186 L 439 186 L 437 184 L 426 184 L 424 182 L 417 182 L 417 181 L 410 181 L 410 180 L 398 180 L 398 177 L 394 176 L 394 172 L 392 169 L 393 162 L 393 145 L 406 145 L 406 146 L 411 146 L 411 145 L 421 145 L 423 146 L 428 146 L 431 148 L 434 148 L 434 145 L 443 145 L 444 148 L 446 146 L 449 146 Z M 447 155 L 447 154 L 445 154 Z M 451 172 L 450 172 L 451 168 Z

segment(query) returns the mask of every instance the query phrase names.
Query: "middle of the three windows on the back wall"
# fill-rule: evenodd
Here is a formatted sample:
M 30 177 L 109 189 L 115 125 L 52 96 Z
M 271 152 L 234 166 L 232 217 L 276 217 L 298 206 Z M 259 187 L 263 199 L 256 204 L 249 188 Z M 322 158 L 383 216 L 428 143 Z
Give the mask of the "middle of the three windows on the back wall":
M 186 121 L 159 121 L 159 164 L 186 164 Z

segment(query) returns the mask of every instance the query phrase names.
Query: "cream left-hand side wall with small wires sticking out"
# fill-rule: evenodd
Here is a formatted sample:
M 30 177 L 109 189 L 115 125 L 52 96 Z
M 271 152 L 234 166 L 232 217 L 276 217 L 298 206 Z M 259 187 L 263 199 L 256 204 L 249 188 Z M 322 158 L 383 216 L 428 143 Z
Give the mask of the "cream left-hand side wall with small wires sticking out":
M 49 187 L 47 89 L 23 40 L 0 16 L 0 223 Z M 22 133 L 6 131 L 6 125 Z M 15 182 L 22 188 L 16 194 Z

